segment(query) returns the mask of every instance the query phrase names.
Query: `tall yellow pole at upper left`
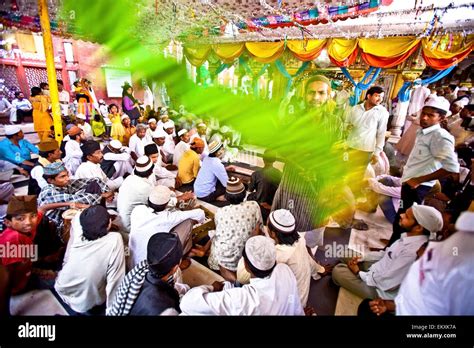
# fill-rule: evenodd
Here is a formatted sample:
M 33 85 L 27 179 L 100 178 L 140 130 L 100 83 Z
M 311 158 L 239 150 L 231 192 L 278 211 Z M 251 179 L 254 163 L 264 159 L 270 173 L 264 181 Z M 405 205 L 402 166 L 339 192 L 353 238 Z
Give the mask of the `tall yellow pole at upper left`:
M 38 13 L 40 17 L 41 31 L 43 33 L 44 54 L 46 57 L 46 70 L 48 72 L 49 93 L 54 122 L 54 137 L 58 143 L 63 140 L 63 125 L 61 120 L 61 108 L 59 106 L 58 82 L 56 77 L 56 66 L 54 64 L 53 37 L 49 25 L 47 0 L 38 0 Z

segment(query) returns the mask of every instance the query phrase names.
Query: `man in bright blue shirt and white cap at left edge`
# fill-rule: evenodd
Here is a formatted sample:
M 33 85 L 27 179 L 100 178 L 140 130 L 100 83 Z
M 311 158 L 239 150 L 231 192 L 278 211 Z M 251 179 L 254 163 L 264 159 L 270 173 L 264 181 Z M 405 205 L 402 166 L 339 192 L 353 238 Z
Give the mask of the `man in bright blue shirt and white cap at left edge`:
M 18 126 L 5 126 L 5 135 L 7 138 L 0 141 L 0 159 L 30 172 L 37 161 L 31 159 L 31 153 L 38 154 L 38 148 L 23 139 L 24 134 Z

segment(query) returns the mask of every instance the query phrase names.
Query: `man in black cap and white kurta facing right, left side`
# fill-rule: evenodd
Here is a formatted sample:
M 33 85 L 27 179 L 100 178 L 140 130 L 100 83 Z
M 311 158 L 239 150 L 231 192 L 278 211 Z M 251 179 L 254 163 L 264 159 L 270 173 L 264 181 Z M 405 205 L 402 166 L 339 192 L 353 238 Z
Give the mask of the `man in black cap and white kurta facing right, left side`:
M 104 155 L 99 143 L 94 140 L 86 141 L 82 145 L 82 152 L 87 161 L 82 162 L 79 168 L 77 168 L 75 179 L 99 178 L 111 191 L 117 191 L 123 182 L 123 178 L 119 177 L 111 180 L 105 175 L 100 167 L 100 162 L 102 162 Z

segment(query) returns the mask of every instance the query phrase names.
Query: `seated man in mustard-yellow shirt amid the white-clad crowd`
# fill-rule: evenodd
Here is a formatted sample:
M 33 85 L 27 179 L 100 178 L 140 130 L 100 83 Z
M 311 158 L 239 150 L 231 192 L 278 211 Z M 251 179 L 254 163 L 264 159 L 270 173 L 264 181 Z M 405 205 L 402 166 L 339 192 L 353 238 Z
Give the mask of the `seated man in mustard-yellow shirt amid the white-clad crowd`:
M 186 151 L 178 163 L 178 178 L 182 183 L 181 190 L 192 190 L 194 180 L 197 177 L 201 161 L 199 155 L 204 151 L 204 141 L 195 138 L 191 143 L 191 149 Z M 189 187 L 188 187 L 189 186 Z

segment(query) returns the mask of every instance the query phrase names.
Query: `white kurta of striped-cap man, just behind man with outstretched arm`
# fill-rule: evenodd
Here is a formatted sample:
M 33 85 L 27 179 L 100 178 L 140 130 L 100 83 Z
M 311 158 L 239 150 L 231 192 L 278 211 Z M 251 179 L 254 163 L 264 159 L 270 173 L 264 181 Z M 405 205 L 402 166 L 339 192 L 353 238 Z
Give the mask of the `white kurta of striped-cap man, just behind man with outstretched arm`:
M 117 211 L 126 232 L 130 232 L 130 215 L 133 208 L 146 204 L 153 184 L 148 178 L 129 175 L 120 186 L 117 195 Z

